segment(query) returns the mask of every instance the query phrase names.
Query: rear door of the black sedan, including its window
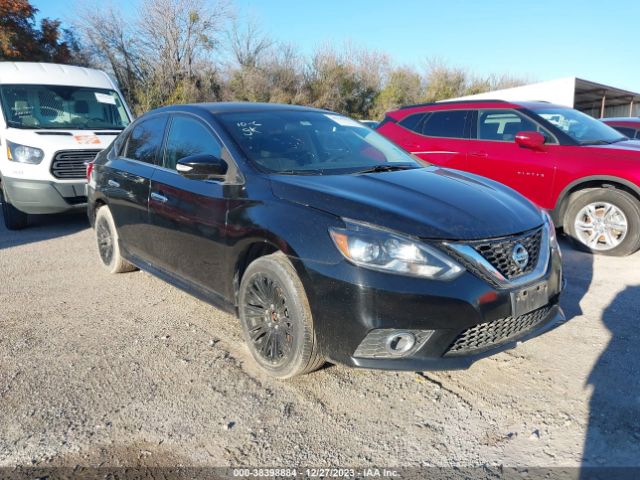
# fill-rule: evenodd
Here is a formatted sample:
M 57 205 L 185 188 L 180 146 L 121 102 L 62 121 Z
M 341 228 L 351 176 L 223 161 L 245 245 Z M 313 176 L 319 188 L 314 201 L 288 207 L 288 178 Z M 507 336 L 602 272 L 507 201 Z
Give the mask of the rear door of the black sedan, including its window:
M 133 125 L 101 180 L 109 208 L 127 252 L 147 258 L 149 188 L 159 161 L 167 115 L 159 114 Z M 116 148 L 116 147 L 114 147 Z

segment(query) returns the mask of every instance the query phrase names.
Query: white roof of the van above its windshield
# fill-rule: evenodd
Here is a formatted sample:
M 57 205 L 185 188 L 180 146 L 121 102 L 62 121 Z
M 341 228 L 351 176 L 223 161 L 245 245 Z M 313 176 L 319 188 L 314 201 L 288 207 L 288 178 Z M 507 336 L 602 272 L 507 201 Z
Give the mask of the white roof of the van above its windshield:
M 57 63 L 0 62 L 0 83 L 114 89 L 109 76 L 101 70 Z

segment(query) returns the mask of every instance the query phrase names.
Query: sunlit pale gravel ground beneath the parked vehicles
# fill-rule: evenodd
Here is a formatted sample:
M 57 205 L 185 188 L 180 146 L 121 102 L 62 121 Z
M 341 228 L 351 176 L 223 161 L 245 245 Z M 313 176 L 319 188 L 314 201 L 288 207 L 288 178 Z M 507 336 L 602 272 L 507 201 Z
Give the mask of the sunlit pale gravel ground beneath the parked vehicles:
M 640 465 L 640 254 L 564 253 L 569 322 L 515 350 L 276 381 L 233 317 L 105 273 L 83 216 L 0 227 L 0 466 Z

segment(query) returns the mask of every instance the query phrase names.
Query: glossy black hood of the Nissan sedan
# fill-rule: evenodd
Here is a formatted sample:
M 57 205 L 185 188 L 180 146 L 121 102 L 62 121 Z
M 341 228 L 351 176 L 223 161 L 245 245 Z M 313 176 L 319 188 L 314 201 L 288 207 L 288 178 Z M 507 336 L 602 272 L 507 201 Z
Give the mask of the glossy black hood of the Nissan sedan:
M 492 180 L 440 167 L 272 177 L 274 195 L 339 217 L 430 239 L 475 240 L 542 225 L 540 211 Z

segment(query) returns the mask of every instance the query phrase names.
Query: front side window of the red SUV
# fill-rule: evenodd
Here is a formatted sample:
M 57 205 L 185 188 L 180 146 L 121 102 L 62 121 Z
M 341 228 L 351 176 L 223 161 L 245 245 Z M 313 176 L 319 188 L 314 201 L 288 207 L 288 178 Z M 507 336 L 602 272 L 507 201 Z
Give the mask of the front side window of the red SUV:
M 523 131 L 542 133 L 549 142 L 553 136 L 540 125 L 515 110 L 480 110 L 478 112 L 477 137 L 479 140 L 513 142 Z

